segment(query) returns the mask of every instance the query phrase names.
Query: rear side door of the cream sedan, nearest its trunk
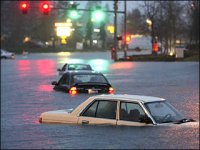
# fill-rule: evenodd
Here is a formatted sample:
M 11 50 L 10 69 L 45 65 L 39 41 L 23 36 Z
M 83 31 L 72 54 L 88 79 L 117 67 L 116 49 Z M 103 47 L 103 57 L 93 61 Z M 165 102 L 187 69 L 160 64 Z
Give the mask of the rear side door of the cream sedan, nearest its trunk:
M 116 125 L 117 101 L 95 100 L 79 116 L 78 124 Z

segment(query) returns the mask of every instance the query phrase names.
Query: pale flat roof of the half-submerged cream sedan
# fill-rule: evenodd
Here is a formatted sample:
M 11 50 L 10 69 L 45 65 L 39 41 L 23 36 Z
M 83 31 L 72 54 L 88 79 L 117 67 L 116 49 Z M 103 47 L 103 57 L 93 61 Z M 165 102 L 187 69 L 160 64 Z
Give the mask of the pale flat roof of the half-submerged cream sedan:
M 128 94 L 103 94 L 94 96 L 94 98 L 102 98 L 102 99 L 110 99 L 110 100 L 128 100 L 128 101 L 138 101 L 138 102 L 156 102 L 156 101 L 164 101 L 164 98 L 152 97 L 152 96 L 143 96 L 143 95 L 128 95 Z

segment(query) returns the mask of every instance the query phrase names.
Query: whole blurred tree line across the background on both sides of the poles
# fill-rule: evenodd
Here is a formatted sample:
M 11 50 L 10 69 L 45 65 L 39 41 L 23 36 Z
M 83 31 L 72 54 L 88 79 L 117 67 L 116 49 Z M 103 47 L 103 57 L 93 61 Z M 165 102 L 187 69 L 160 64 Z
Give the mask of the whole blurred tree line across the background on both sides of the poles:
M 38 41 L 58 40 L 54 22 L 63 22 L 67 18 L 67 9 L 52 10 L 49 15 L 43 15 L 37 8 L 39 1 L 30 1 L 33 6 L 28 14 L 23 15 L 17 1 L 1 1 L 1 45 L 16 47 L 23 45 L 26 36 Z M 68 1 L 52 1 L 60 8 L 68 8 Z M 86 9 L 102 5 L 101 1 L 88 1 Z M 109 5 L 103 6 L 109 10 Z M 90 12 L 82 12 L 79 20 L 73 21 L 75 28 L 68 39 L 68 46 L 75 47 L 76 42 L 83 42 L 87 48 L 93 47 L 93 39 L 102 41 L 102 48 L 109 48 L 113 42 L 113 35 L 106 30 L 106 26 L 113 24 L 112 14 L 100 24 L 93 24 Z M 121 20 L 120 20 L 121 19 Z M 123 24 L 123 17 L 118 24 Z M 151 20 L 151 26 L 146 22 Z M 82 25 L 80 25 L 82 24 Z M 189 46 L 199 48 L 199 1 L 144 1 L 127 14 L 127 32 L 152 36 L 152 42 L 159 40 L 165 47 L 166 53 L 177 40 L 187 41 Z M 94 33 L 97 27 L 100 32 Z M 123 25 L 120 26 L 123 32 Z M 120 34 L 120 31 L 119 31 Z

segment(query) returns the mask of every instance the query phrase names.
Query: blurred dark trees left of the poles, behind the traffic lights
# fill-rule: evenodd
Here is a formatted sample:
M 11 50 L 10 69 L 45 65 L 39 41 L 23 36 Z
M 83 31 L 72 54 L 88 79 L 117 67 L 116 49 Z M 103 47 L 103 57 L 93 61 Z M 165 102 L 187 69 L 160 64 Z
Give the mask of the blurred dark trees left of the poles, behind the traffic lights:
M 51 1 L 55 8 L 48 15 L 43 15 L 39 10 L 40 1 L 29 1 L 30 9 L 23 15 L 19 9 L 19 1 L 1 1 L 1 44 L 6 47 L 17 47 L 24 45 L 25 37 L 40 41 L 60 40 L 56 36 L 55 22 L 66 22 L 68 16 L 69 1 Z M 101 1 L 88 1 L 86 9 L 94 8 L 100 5 Z M 109 9 L 109 6 L 103 6 Z M 73 20 L 72 35 L 67 39 L 68 47 L 75 47 L 76 42 L 83 42 L 86 47 L 92 47 L 94 38 L 102 41 L 102 47 L 105 48 L 108 31 L 106 25 L 109 24 L 109 17 L 99 24 L 91 22 L 90 11 L 80 12 L 82 17 Z M 109 16 L 109 15 L 105 15 Z M 94 28 L 100 28 L 99 33 L 93 33 Z

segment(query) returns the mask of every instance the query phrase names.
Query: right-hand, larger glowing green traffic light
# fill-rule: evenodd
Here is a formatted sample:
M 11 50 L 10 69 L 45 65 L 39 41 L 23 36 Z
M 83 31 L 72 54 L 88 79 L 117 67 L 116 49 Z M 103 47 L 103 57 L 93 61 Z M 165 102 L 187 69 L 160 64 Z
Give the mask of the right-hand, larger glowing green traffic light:
M 92 12 L 92 19 L 101 22 L 105 19 L 105 13 L 100 6 L 96 7 L 96 10 Z

